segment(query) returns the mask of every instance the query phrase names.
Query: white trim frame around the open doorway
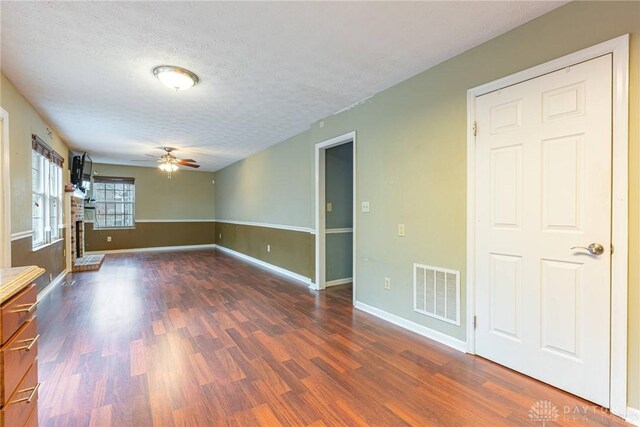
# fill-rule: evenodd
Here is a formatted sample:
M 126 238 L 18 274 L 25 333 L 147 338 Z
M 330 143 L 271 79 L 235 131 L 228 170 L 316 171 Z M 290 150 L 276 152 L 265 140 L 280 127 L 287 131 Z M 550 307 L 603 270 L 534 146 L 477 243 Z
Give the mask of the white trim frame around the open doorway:
M 315 165 L 316 165 L 316 206 L 315 206 L 315 220 L 316 220 L 316 278 L 315 282 L 311 284 L 311 287 L 316 290 L 325 289 L 325 221 L 324 221 L 324 207 L 325 207 L 325 152 L 327 149 L 336 147 L 342 144 L 353 143 L 353 260 L 352 260 L 352 278 L 353 278 L 353 299 L 356 301 L 356 132 L 352 131 L 345 133 L 344 135 L 331 138 L 327 141 L 320 142 L 315 146 Z

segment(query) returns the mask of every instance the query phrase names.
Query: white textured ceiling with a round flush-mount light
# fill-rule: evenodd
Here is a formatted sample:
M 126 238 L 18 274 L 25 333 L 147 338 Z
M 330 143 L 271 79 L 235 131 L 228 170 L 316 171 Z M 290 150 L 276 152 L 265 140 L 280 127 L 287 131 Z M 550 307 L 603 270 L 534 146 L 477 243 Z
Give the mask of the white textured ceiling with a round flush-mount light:
M 562 3 L 2 1 L 0 65 L 94 161 L 170 145 L 215 171 Z

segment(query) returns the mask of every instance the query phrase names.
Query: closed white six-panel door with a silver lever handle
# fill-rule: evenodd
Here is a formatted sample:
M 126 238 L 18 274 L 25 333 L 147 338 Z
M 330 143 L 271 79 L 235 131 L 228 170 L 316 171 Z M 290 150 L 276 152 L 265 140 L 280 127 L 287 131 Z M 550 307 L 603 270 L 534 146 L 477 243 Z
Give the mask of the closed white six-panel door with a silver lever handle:
M 605 407 L 611 61 L 476 100 L 476 353 Z

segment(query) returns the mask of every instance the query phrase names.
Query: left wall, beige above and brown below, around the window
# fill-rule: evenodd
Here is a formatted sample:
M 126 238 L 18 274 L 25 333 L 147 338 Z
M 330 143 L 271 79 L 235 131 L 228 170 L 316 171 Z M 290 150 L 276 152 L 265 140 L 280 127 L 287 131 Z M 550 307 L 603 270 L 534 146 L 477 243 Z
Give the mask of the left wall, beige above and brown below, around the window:
M 53 128 L 40 116 L 13 84 L 0 74 L 0 106 L 9 113 L 9 143 L 11 167 L 11 232 L 32 229 L 31 223 L 31 135 L 38 135 L 51 148 L 64 157 L 63 177 L 68 181 L 68 148 Z M 65 233 L 66 236 L 66 233 Z M 38 265 L 46 270 L 38 280 L 42 290 L 51 278 L 65 269 L 64 241 L 33 251 L 31 238 L 11 242 L 13 266 Z

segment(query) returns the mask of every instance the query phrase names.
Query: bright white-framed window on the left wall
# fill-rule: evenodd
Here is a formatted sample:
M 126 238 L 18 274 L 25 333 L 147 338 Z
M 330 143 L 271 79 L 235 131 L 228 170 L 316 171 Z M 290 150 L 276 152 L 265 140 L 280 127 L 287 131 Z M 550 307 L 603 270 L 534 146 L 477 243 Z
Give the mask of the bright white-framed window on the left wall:
M 33 135 L 31 152 L 33 248 L 62 238 L 62 157 Z

